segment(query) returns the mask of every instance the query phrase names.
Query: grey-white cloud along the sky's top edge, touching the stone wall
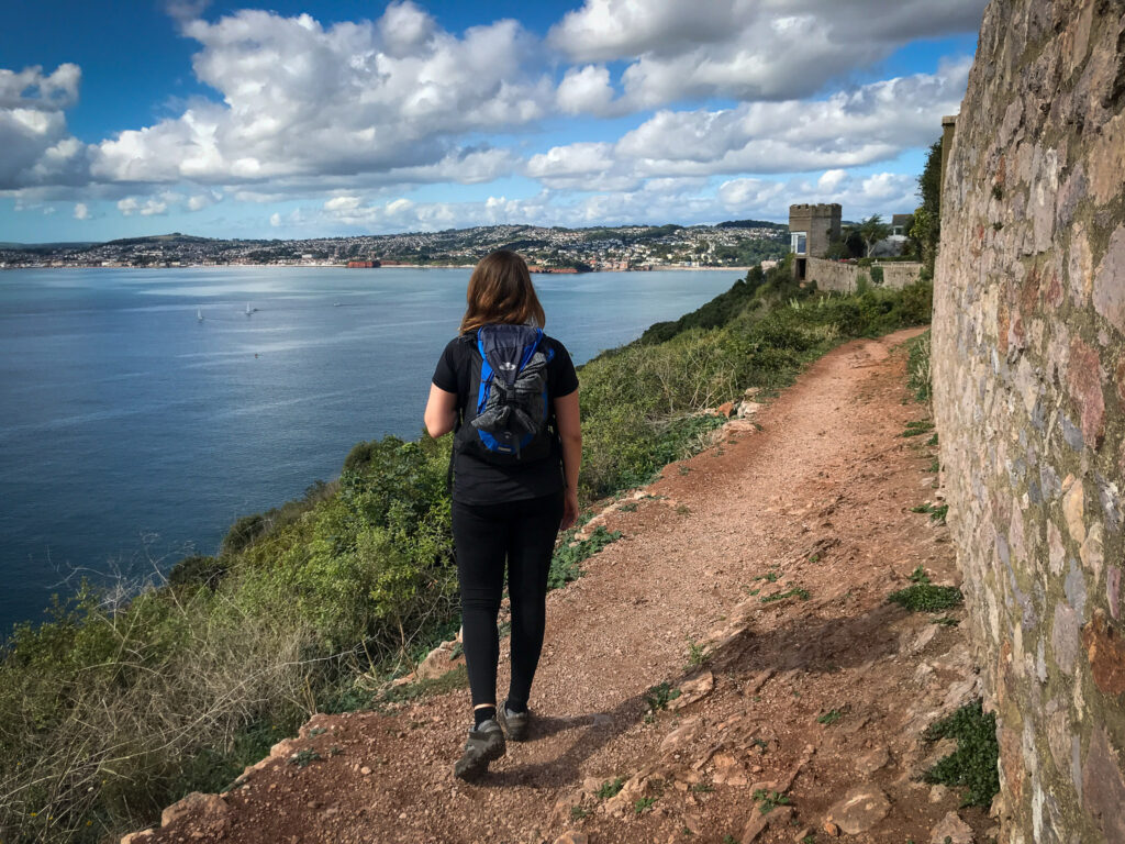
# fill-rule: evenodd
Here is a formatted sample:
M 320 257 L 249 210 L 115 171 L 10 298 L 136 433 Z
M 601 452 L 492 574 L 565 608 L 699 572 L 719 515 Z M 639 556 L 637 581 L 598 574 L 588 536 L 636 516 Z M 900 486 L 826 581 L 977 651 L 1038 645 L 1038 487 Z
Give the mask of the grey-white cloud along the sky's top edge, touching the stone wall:
M 586 0 L 548 41 L 578 62 L 630 62 L 618 108 L 686 98 L 791 99 L 910 41 L 973 32 L 984 0 Z M 592 104 L 594 114 L 608 104 Z

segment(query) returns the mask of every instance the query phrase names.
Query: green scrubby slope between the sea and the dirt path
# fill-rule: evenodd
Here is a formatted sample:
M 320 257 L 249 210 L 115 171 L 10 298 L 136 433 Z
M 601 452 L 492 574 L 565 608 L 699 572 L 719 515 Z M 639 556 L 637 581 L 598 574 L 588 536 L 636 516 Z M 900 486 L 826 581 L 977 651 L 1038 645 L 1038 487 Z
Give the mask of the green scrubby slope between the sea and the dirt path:
M 688 320 L 580 369 L 587 506 L 708 447 L 723 424 L 709 408 L 929 315 L 925 285 L 825 295 L 782 266 L 736 288 L 720 324 Z M 359 443 L 339 479 L 240 519 L 216 556 L 181 560 L 162 587 L 84 587 L 53 621 L 17 629 L 0 662 L 2 839 L 111 839 L 184 794 L 222 791 L 313 713 L 421 693 L 392 681 L 459 626 L 447 449 Z M 565 536 L 552 586 L 616 538 Z

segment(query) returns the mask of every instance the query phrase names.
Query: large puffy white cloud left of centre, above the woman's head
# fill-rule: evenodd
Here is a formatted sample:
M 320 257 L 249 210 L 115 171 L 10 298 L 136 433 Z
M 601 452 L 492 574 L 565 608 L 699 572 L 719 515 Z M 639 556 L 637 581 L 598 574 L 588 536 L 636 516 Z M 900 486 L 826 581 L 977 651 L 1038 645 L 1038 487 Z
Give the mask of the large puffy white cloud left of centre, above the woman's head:
M 442 164 L 504 158 L 462 149 L 464 135 L 536 119 L 554 93 L 523 71 L 531 39 L 513 20 L 458 37 L 398 3 L 377 21 L 328 28 L 308 15 L 243 10 L 183 32 L 201 45 L 196 75 L 223 102 L 104 141 L 96 178 L 246 183 L 438 168 L 438 178 L 461 180 Z M 469 167 L 465 178 L 474 176 Z

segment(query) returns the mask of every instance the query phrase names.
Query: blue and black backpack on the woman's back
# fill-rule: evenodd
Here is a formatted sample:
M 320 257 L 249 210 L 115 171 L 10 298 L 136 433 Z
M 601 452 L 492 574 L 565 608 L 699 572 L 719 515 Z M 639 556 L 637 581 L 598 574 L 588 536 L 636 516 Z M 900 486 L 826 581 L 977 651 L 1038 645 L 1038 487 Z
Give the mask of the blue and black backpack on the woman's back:
M 469 401 L 454 450 L 487 463 L 530 463 L 554 454 L 547 365 L 555 357 L 542 329 L 489 324 L 477 330 Z

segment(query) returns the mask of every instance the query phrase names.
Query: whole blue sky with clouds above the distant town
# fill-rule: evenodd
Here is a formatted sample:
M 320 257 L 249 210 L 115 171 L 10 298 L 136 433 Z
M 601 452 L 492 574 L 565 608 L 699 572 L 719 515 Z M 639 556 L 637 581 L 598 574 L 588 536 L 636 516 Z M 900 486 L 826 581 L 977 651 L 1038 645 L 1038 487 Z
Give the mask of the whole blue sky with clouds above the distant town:
M 0 242 L 909 213 L 986 0 L 0 0 Z

